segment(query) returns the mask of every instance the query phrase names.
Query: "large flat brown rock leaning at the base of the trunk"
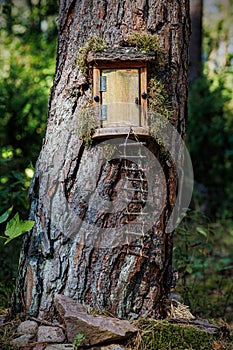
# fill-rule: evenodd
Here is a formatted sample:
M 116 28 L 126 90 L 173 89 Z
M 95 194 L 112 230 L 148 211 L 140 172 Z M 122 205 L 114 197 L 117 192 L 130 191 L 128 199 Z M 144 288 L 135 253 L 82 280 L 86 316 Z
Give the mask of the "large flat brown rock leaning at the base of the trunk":
M 84 345 L 123 340 L 138 330 L 127 320 L 113 317 L 92 316 L 71 298 L 56 295 L 55 304 L 66 325 L 67 338 L 73 342 L 77 334 L 83 334 Z

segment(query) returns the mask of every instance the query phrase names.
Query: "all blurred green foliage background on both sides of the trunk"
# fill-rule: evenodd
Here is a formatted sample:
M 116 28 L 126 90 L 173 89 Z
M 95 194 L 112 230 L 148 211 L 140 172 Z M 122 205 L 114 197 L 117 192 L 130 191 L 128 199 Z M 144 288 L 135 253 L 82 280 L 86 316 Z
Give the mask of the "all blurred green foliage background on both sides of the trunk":
M 12 216 L 27 219 L 55 71 L 58 5 L 5 0 L 0 11 L 0 215 L 13 205 Z M 204 23 L 203 71 L 189 91 L 187 146 L 196 186 L 193 210 L 174 235 L 174 267 L 176 291 L 193 313 L 233 322 L 233 56 L 222 62 L 217 55 L 232 22 L 218 11 L 218 19 Z M 0 308 L 11 298 L 20 247 L 21 238 L 7 246 L 0 239 Z

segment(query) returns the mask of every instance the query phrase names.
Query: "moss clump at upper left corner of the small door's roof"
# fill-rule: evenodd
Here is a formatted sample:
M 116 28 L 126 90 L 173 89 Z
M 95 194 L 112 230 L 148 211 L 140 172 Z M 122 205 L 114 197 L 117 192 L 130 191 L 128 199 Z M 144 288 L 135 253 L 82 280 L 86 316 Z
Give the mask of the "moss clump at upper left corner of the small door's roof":
M 103 51 L 106 47 L 106 41 L 98 36 L 91 36 L 86 44 L 81 47 L 76 62 L 84 76 L 88 75 L 88 53 L 90 51 Z

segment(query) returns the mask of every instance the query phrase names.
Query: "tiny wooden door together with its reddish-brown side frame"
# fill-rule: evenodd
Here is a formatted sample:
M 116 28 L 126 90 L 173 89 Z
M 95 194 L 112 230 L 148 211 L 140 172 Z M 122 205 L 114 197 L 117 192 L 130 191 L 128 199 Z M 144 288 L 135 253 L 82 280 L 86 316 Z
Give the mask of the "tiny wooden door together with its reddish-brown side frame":
M 93 97 L 94 104 L 100 107 L 100 128 L 121 134 L 126 128 L 147 127 L 146 75 L 147 68 L 142 63 L 94 65 Z

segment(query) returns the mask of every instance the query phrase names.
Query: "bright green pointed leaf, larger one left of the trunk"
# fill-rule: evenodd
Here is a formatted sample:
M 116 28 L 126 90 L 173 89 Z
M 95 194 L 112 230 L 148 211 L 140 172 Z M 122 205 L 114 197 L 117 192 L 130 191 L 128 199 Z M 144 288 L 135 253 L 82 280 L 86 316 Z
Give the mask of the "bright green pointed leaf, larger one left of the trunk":
M 5 244 L 9 243 L 12 239 L 21 236 L 23 233 L 30 231 L 34 226 L 34 221 L 20 220 L 19 214 L 15 216 L 7 223 L 5 235 L 8 237 Z

